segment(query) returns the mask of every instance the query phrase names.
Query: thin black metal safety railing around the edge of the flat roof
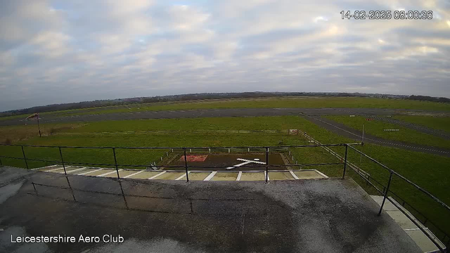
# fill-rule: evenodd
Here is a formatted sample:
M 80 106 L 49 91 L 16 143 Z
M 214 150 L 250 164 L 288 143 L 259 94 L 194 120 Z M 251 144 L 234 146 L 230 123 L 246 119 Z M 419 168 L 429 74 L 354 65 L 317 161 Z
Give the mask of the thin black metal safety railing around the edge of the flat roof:
M 399 202 L 403 203 L 402 206 L 408 205 L 409 209 L 412 208 L 416 212 L 418 212 L 417 209 L 415 209 L 412 205 L 407 204 L 403 199 L 401 199 L 401 197 L 399 197 L 399 195 L 397 195 L 396 193 L 394 193 L 391 190 L 392 177 L 396 176 L 397 178 L 401 179 L 402 181 L 408 183 L 410 186 L 413 186 L 413 188 L 416 188 L 416 190 L 419 190 L 421 193 L 423 193 L 427 197 L 429 197 L 430 200 L 433 200 L 433 201 L 437 202 L 440 206 L 444 207 L 444 209 L 446 209 L 446 212 L 450 211 L 450 207 L 448 205 L 446 205 L 444 202 L 439 200 L 437 197 L 435 197 L 431 193 L 428 193 L 427 190 L 425 190 L 425 189 L 421 188 L 420 186 L 416 185 L 416 183 L 411 182 L 409 179 L 406 179 L 404 176 L 401 176 L 397 172 L 395 172 L 392 169 L 386 167 L 384 164 L 381 164 L 380 162 L 378 162 L 377 160 L 373 159 L 372 157 L 369 157 L 368 155 L 366 155 L 366 154 L 362 153 L 361 151 L 357 150 L 356 148 L 354 148 L 354 145 L 361 145 L 362 143 L 321 144 L 318 141 L 314 140 L 313 138 L 307 136 L 306 133 L 302 133 L 302 134 L 305 137 L 307 137 L 309 140 L 314 142 L 315 144 L 314 145 L 286 145 L 286 146 L 221 147 L 221 148 L 217 148 L 217 147 L 86 147 L 86 146 L 48 146 L 48 145 L 7 145 L 7 144 L 0 144 L 0 145 L 4 145 L 4 146 L 20 147 L 20 149 L 22 151 L 22 155 L 23 155 L 23 157 L 10 157 L 10 156 L 5 156 L 5 155 L 0 155 L 0 165 L 3 165 L 2 161 L 1 161 L 1 158 L 24 160 L 25 161 L 25 166 L 27 167 L 27 169 L 30 169 L 29 166 L 28 166 L 28 161 L 54 162 L 54 163 L 61 162 L 61 164 L 63 164 L 63 169 L 64 169 L 65 176 L 67 176 L 67 171 L 65 170 L 65 166 L 68 165 L 68 164 L 86 164 L 86 165 L 110 166 L 110 167 L 115 167 L 115 170 L 117 172 L 117 179 L 120 179 L 119 167 L 148 167 L 148 165 L 147 164 L 145 164 L 145 165 L 144 164 L 119 164 L 117 162 L 116 150 L 170 150 L 172 152 L 176 151 L 176 152 L 182 152 L 183 153 L 183 155 L 184 155 L 184 165 L 182 165 L 182 166 L 177 166 L 177 165 L 155 165 L 155 167 L 158 167 L 158 168 L 161 168 L 161 167 L 172 167 L 172 168 L 184 169 L 184 170 L 180 170 L 180 171 L 183 171 L 183 172 L 186 173 L 186 181 L 189 181 L 189 177 L 188 177 L 189 167 L 193 167 L 193 166 L 190 166 L 188 164 L 187 153 L 191 153 L 191 152 L 211 153 L 211 152 L 223 152 L 224 150 L 225 151 L 228 150 L 228 152 L 231 152 L 231 150 L 247 150 L 248 152 L 250 152 L 250 150 L 252 150 L 254 152 L 264 152 L 265 153 L 264 167 L 265 167 L 265 181 L 267 182 L 268 179 L 269 179 L 269 167 L 307 167 L 307 166 L 317 166 L 317 165 L 343 164 L 342 179 L 345 178 L 345 173 L 346 173 L 346 169 L 347 169 L 347 166 L 348 166 L 348 167 L 352 168 L 356 172 L 356 174 L 361 176 L 361 178 L 364 179 L 366 181 L 366 183 L 368 183 L 369 185 L 373 186 L 373 188 L 375 188 L 375 190 L 378 193 L 383 195 L 383 202 L 381 204 L 381 207 L 380 207 L 380 210 L 378 212 L 378 215 L 381 214 L 381 212 L 383 210 L 383 206 L 385 205 L 385 201 L 389 200 L 390 202 L 392 202 L 392 205 L 396 206 L 409 219 L 411 219 L 411 221 L 416 226 L 418 226 L 420 231 L 423 231 L 423 233 L 425 233 L 425 235 L 428 238 L 430 238 L 430 240 L 432 240 L 432 242 L 439 248 L 439 250 L 441 250 L 442 252 L 445 252 L 446 247 L 442 247 L 439 244 L 439 241 L 436 240 L 436 238 L 434 238 L 432 235 L 430 235 L 430 233 L 428 233 L 428 231 L 426 231 L 422 226 L 420 226 L 418 221 L 413 219 L 414 217 L 411 216 L 411 214 L 409 214 L 408 212 L 405 212 L 404 209 L 399 207 L 399 204 L 396 201 L 394 201 L 390 197 L 388 197 L 388 195 L 393 195 L 395 198 L 400 200 Z M 58 149 L 58 153 L 60 155 L 60 161 L 39 160 L 39 159 L 27 158 L 24 147 L 56 148 L 56 149 Z M 314 148 L 314 147 L 325 148 L 328 152 L 330 152 L 336 158 L 340 159 L 342 162 L 328 162 L 328 163 L 316 163 L 316 164 L 298 164 L 297 162 L 295 162 L 294 164 L 285 164 L 285 165 L 276 165 L 276 164 L 270 164 L 269 163 L 270 162 L 269 161 L 269 152 L 270 151 L 281 152 L 283 150 L 286 151 L 286 150 L 290 150 L 292 148 Z M 345 156 L 342 157 L 342 156 L 338 155 L 338 153 L 335 153 L 335 151 L 331 150 L 330 147 L 345 147 Z M 114 164 L 86 163 L 86 162 L 68 162 L 68 161 L 65 161 L 64 157 L 63 157 L 63 150 L 66 149 L 66 148 L 111 150 L 111 154 L 110 155 L 114 158 Z M 373 179 L 373 177 L 371 177 L 371 175 L 368 174 L 366 171 L 363 171 L 362 169 L 359 169 L 359 167 L 356 167 L 356 165 L 354 165 L 351 162 L 349 162 L 347 160 L 347 153 L 348 153 L 349 149 L 356 151 L 357 153 L 359 153 L 359 154 L 363 155 L 364 157 L 366 157 L 368 160 L 371 160 L 372 162 L 375 162 L 375 164 L 378 164 L 380 167 L 383 167 L 383 169 L 386 169 L 387 171 L 389 171 L 390 177 L 389 177 L 389 181 L 387 181 L 387 185 L 384 186 L 383 183 L 380 183 L 379 181 Z M 166 153 L 166 154 L 168 154 L 168 153 Z M 205 168 L 223 168 L 222 166 L 198 166 L 198 165 L 195 165 L 195 167 L 196 168 L 200 168 L 200 167 L 205 167 Z M 245 167 L 252 167 L 252 166 L 245 166 L 244 165 L 242 167 L 245 168 Z M 284 169 L 284 170 L 283 169 L 276 169 L 276 170 L 271 170 L 271 171 L 290 171 L 290 170 L 288 170 L 288 169 Z M 381 190 L 380 188 L 375 186 L 374 182 L 378 183 L 379 186 L 383 186 L 383 190 Z M 33 186 L 34 186 L 34 183 L 33 183 Z M 418 212 L 418 213 L 420 214 L 420 212 Z M 448 247 L 448 245 L 450 244 L 450 236 L 445 231 L 443 231 L 441 228 L 439 228 L 435 223 L 430 221 L 429 219 L 426 219 L 425 223 L 427 221 L 432 223 L 433 226 L 435 226 L 437 231 L 439 231 L 439 233 L 442 235 L 440 237 L 440 239 L 443 242 L 446 242 L 446 245 Z

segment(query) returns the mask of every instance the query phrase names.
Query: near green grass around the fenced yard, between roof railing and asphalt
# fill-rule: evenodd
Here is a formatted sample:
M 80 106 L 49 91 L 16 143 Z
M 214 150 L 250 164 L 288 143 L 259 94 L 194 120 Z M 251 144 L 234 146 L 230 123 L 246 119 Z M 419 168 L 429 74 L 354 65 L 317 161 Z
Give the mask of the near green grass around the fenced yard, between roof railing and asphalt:
M 9 126 L 8 126 L 9 127 Z M 23 131 L 32 131 L 26 126 Z M 46 124 L 44 128 L 47 128 Z M 317 126 L 302 117 L 220 117 L 203 119 L 146 119 L 129 121 L 92 122 L 77 127 L 54 126 L 62 133 L 72 133 L 72 136 L 46 136 L 43 138 L 30 137 L 22 141 L 15 141 L 19 144 L 35 145 L 82 145 L 82 146 L 248 146 L 248 145 L 278 145 L 283 139 L 283 145 L 303 145 L 308 144 L 301 136 L 288 136 L 281 134 L 147 134 L 147 135 L 117 135 L 117 136 L 81 136 L 77 133 L 101 132 L 101 131 L 150 131 L 150 130 L 261 130 L 261 129 L 301 129 L 307 131 L 322 143 L 352 143 L 354 141 L 341 136 L 337 136 L 326 129 Z M 0 127 L 2 135 L 15 132 L 18 127 Z M 36 132 L 35 132 L 36 133 Z M 333 148 L 341 155 L 344 148 Z M 116 150 L 117 162 L 120 164 L 149 164 L 160 160 L 168 150 Z M 0 146 L 2 155 L 23 157 L 20 147 Z M 25 147 L 25 153 L 29 159 L 54 160 L 60 163 L 59 151 L 57 148 L 29 148 Z M 437 155 L 416 153 L 397 148 L 387 148 L 378 145 L 366 144 L 364 153 L 375 157 L 400 174 L 418 183 L 433 195 L 439 197 L 446 203 L 450 203 L 450 171 L 448 164 L 450 158 Z M 295 160 L 299 163 L 336 162 L 322 148 L 297 148 L 293 150 Z M 66 162 L 88 162 L 113 164 L 113 153 L 110 149 L 63 149 L 63 156 Z M 387 183 L 389 174 L 385 169 L 373 162 L 363 159 L 359 162 L 359 155 L 349 152 L 349 160 L 368 171 L 368 173 L 380 182 Z M 4 164 L 17 167 L 25 167 L 21 160 L 2 158 Z M 53 164 L 54 164 L 53 163 Z M 50 165 L 52 162 L 30 162 L 30 167 L 40 167 Z M 311 167 L 307 168 L 310 169 Z M 342 176 L 342 165 L 314 167 L 328 176 Z M 347 172 L 352 175 L 352 171 Z M 365 186 L 358 176 L 352 175 L 361 186 L 369 193 L 375 193 L 371 188 Z M 439 209 L 435 203 L 430 202 L 418 190 L 394 179 L 392 189 L 401 195 L 406 201 L 415 203 L 420 212 L 426 214 L 433 221 L 438 221 L 450 232 L 450 221 L 445 219 L 448 213 Z

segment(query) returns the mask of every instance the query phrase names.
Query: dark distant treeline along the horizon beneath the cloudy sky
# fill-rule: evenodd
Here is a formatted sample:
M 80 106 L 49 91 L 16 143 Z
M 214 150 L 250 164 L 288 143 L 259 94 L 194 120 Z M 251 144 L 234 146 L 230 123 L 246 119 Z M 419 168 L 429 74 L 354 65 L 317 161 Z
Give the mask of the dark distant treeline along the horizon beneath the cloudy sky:
M 425 100 L 434 102 L 450 103 L 449 98 L 434 98 L 430 96 L 404 96 L 392 94 L 372 94 L 372 93 L 335 93 L 335 92 L 241 92 L 241 93 L 193 93 L 171 96 L 154 96 L 141 98 L 121 98 L 114 100 L 94 100 L 79 103 L 64 103 L 54 105 L 35 106 L 32 108 L 10 110 L 0 112 L 0 117 L 11 115 L 27 115 L 35 112 L 54 112 L 59 110 L 74 110 L 83 108 L 96 108 L 112 105 L 130 105 L 136 103 L 158 103 L 186 100 L 205 100 L 205 99 L 223 99 L 223 98 L 266 98 L 283 96 L 347 96 L 347 97 L 371 97 L 371 98 L 399 98 L 411 100 Z

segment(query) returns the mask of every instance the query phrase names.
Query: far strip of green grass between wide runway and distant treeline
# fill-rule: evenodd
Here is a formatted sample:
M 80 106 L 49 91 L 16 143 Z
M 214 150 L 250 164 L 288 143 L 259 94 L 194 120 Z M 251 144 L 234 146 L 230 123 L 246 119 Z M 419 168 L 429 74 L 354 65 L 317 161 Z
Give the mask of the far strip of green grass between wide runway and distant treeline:
M 283 97 L 283 98 L 239 98 L 224 100 L 180 101 L 166 103 L 147 103 L 134 105 L 115 105 L 103 108 L 84 108 L 42 115 L 88 115 L 91 113 L 141 112 L 146 110 L 188 110 L 217 108 L 392 108 L 450 111 L 450 103 L 435 103 L 418 100 L 392 98 L 356 97 Z M 26 117 L 27 115 L 25 115 Z M 22 115 L 0 117 L 0 120 L 20 118 Z

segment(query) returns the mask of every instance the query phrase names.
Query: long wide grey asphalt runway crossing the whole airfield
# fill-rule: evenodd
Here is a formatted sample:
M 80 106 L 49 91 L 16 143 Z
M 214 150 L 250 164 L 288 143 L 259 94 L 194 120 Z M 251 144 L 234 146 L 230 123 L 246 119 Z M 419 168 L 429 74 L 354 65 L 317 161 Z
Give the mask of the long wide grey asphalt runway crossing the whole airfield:
M 377 108 L 242 108 L 242 109 L 205 109 L 205 110 L 167 110 L 145 112 L 120 112 L 108 114 L 74 115 L 58 117 L 45 115 L 40 117 L 42 123 L 50 122 L 95 122 L 122 119 L 178 119 L 197 117 L 256 117 L 256 116 L 284 116 L 284 115 L 401 115 L 406 112 L 428 112 L 442 115 L 445 112 L 423 110 L 395 110 Z M 37 124 L 25 119 L 0 120 L 0 126 Z

